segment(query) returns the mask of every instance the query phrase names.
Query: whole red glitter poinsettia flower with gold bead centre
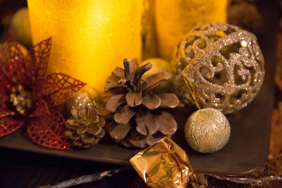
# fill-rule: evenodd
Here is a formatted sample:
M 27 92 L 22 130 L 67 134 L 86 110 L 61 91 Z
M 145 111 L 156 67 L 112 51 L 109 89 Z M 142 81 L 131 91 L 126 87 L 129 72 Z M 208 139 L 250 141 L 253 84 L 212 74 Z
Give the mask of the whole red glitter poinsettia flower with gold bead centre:
M 51 38 L 24 56 L 20 44 L 0 44 L 0 137 L 27 124 L 37 144 L 71 149 L 64 135 L 63 115 L 52 109 L 78 92 L 85 83 L 61 73 L 47 75 Z

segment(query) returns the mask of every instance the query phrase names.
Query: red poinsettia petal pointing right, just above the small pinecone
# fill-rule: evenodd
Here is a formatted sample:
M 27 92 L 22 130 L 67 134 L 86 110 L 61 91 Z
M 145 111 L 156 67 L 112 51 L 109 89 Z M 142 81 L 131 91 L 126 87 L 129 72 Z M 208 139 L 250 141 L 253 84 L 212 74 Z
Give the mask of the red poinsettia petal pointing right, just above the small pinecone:
M 85 86 L 84 82 L 61 73 L 51 73 L 46 78 L 49 82 L 49 87 L 42 87 L 45 89 L 45 95 L 48 96 L 48 99 L 45 100 L 48 106 L 61 104 Z

